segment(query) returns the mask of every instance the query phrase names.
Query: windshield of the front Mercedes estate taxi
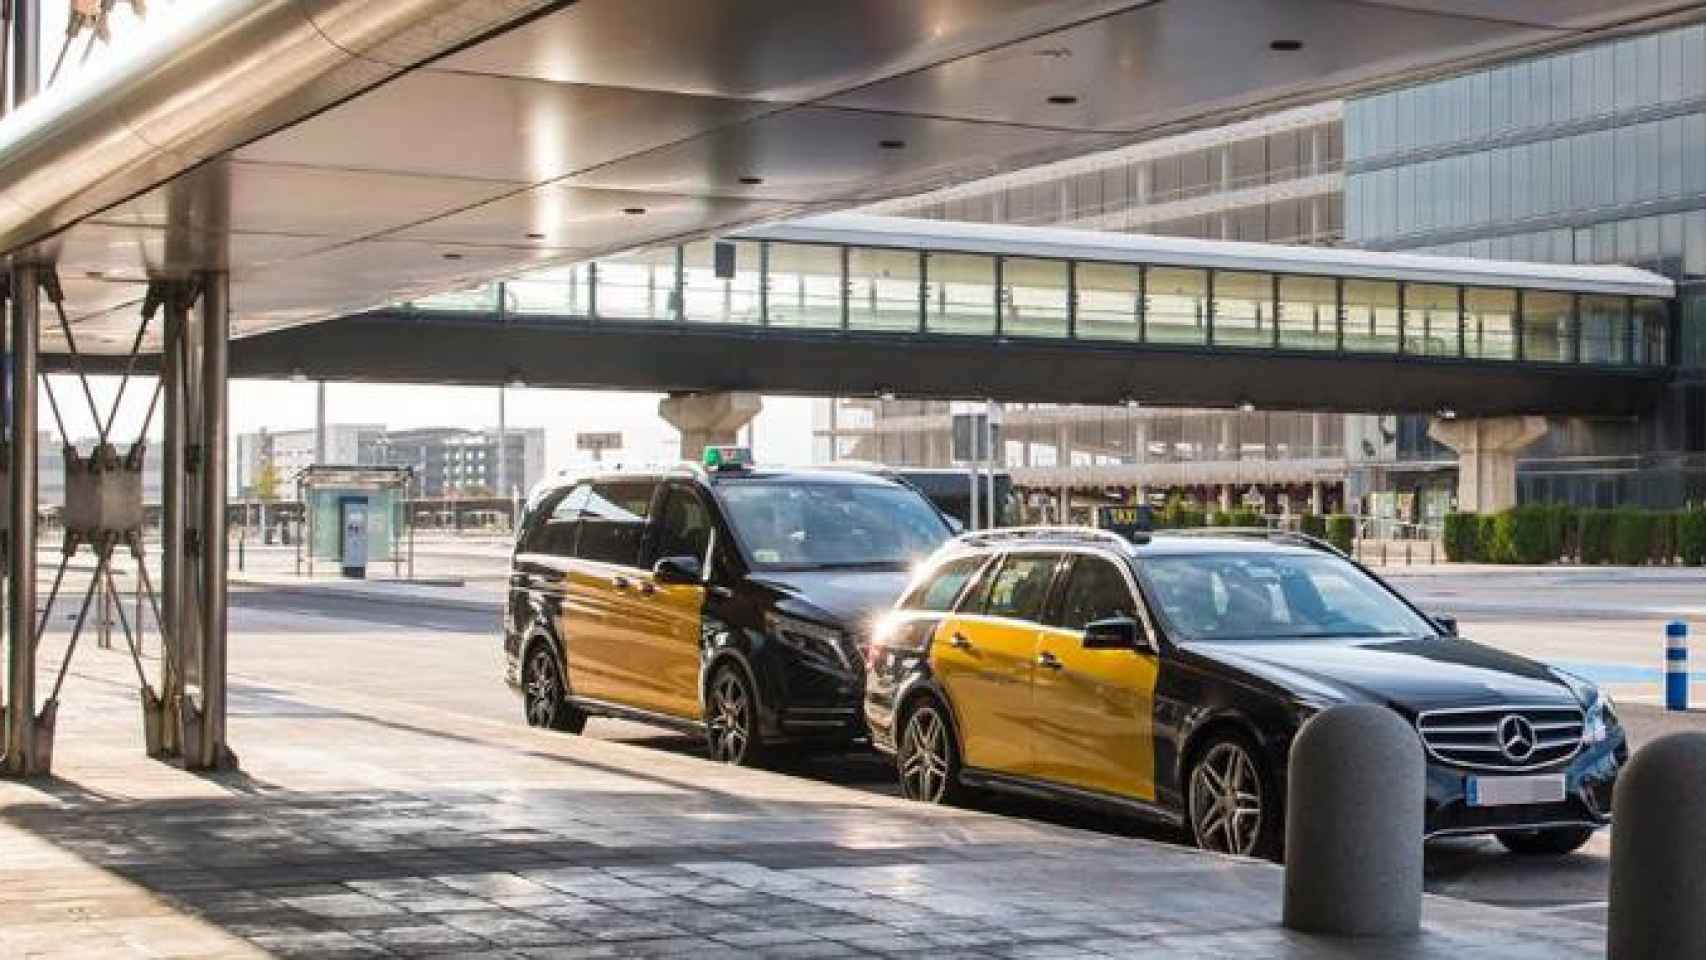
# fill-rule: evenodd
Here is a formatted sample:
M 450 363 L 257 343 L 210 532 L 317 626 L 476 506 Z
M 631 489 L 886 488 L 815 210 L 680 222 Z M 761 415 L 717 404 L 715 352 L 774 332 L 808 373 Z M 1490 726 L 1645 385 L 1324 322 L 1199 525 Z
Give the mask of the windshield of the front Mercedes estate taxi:
M 1433 626 L 1326 554 L 1155 556 L 1143 578 L 1181 639 L 1431 636 Z

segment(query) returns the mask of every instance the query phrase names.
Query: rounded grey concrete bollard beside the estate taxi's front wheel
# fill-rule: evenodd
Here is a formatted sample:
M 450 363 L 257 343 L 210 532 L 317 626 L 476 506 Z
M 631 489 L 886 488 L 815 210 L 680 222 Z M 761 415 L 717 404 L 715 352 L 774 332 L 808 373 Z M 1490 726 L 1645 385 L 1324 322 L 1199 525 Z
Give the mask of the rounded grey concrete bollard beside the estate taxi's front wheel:
M 1329 708 L 1291 743 L 1285 926 L 1338 936 L 1421 929 L 1421 738 L 1375 704 Z

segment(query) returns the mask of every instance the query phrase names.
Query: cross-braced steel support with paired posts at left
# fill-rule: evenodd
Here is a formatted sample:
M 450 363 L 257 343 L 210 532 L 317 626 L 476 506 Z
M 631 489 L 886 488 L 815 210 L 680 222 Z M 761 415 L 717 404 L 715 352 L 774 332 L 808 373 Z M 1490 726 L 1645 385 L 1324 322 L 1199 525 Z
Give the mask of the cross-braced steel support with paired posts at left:
M 183 757 L 191 769 L 235 764 L 225 743 L 225 343 L 229 338 L 227 281 L 222 273 L 196 275 L 191 281 L 155 281 L 142 309 L 125 377 L 109 411 L 102 411 L 82 368 L 75 331 L 65 314 L 63 295 L 51 269 L 14 266 L 14 288 L 36 297 L 15 298 L 14 382 L 10 437 L 14 448 L 27 450 L 12 462 L 29 469 L 9 474 L 12 494 L 12 542 L 9 546 L 10 691 L 7 703 L 5 771 L 48 772 L 53 754 L 53 718 L 72 658 L 77 653 L 89 610 L 97 595 L 118 593 L 113 563 L 119 549 L 135 564 L 138 588 L 148 595 L 160 626 L 160 689 L 155 692 L 142 662 L 142 622 L 131 629 L 123 604 L 119 626 L 136 670 L 143 706 L 148 755 Z M 53 385 L 44 394 L 60 435 L 67 438 L 65 541 L 60 568 L 46 609 L 34 610 L 34 341 L 39 336 L 39 293 L 46 293 L 58 317 L 73 368 L 96 425 L 96 447 L 84 457 L 70 443 Z M 119 404 L 131 382 L 131 370 L 148 327 L 164 309 L 160 379 L 150 392 L 142 430 L 125 454 L 111 442 Z M 20 333 L 22 331 L 22 333 Z M 27 333 L 27 336 L 24 336 Z M 27 389 L 26 389 L 27 385 Z M 162 467 L 162 592 L 154 590 L 143 546 L 142 469 L 145 438 L 154 414 L 165 408 L 165 462 Z M 26 443 L 19 443 L 24 438 Z M 27 481 L 20 483 L 20 481 Z M 27 489 L 26 489 L 27 486 Z M 22 515 L 22 518 L 20 518 Z M 17 535 L 22 530 L 24 535 Z M 22 546 L 27 541 L 27 546 Z M 65 658 L 55 674 L 41 714 L 34 713 L 36 650 L 65 583 L 72 556 L 82 546 L 96 556 L 96 570 L 73 621 Z M 12 732 L 22 735 L 14 738 Z M 15 740 L 15 742 L 14 742 Z

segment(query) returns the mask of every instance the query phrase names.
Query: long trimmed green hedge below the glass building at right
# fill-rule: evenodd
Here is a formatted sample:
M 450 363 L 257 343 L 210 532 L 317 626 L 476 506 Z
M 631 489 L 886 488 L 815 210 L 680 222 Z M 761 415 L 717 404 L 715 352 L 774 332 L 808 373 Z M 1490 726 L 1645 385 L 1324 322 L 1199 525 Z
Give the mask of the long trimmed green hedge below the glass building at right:
M 1452 563 L 1706 566 L 1706 510 L 1576 510 L 1529 505 L 1496 515 L 1448 513 Z

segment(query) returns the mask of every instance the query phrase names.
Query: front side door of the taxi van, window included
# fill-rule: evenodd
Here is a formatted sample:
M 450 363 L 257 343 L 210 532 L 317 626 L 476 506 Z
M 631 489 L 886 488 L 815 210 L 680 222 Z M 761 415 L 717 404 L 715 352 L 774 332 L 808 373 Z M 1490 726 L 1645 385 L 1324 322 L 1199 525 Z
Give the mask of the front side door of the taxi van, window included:
M 705 583 L 659 583 L 652 568 L 664 558 L 693 558 L 710 570 L 711 512 L 691 486 L 672 483 L 664 488 L 652 515 L 633 605 L 631 658 L 645 680 L 648 709 L 699 718 L 699 626 L 705 610 Z

